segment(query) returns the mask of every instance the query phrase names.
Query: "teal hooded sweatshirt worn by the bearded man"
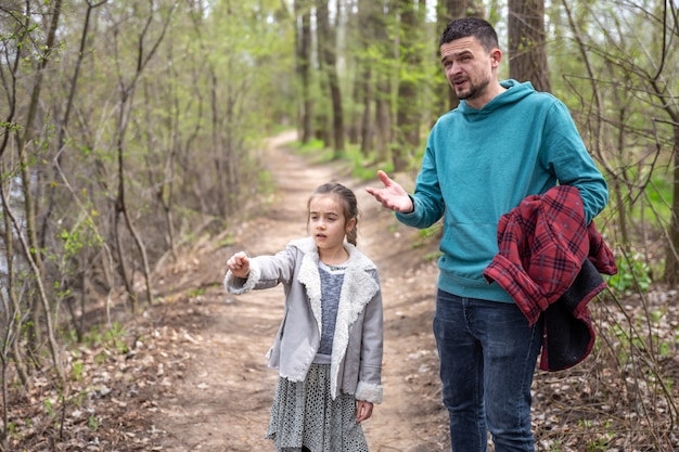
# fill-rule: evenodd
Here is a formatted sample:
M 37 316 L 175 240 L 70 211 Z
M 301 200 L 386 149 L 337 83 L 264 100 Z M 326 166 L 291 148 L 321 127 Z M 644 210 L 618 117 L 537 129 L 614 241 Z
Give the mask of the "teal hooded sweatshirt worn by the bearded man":
M 587 153 L 568 108 L 530 82 L 509 88 L 481 109 L 461 101 L 432 128 L 402 223 L 428 228 L 444 217 L 438 288 L 461 297 L 513 302 L 483 271 L 498 253 L 500 217 L 526 196 L 556 184 L 577 188 L 587 222 L 608 202 L 606 182 Z

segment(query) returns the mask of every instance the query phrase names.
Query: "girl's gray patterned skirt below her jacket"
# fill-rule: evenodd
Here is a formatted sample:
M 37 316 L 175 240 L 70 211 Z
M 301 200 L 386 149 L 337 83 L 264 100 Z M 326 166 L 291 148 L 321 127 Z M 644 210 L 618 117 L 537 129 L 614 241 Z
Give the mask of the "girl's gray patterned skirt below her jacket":
M 332 400 L 330 364 L 311 364 L 305 382 L 279 378 L 266 438 L 278 452 L 368 452 L 354 396 Z

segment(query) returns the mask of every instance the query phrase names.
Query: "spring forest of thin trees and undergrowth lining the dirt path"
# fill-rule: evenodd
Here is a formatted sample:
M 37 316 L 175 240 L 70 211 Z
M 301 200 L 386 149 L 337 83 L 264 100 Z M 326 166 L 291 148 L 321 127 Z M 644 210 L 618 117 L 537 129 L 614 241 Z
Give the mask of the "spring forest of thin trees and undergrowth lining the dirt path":
M 619 417 L 597 428 L 626 447 L 588 450 L 677 450 L 676 1 L 4 0 L 0 451 L 36 385 L 49 411 L 78 399 L 67 350 L 158 302 L 158 269 L 270 193 L 267 138 L 296 130 L 357 178 L 417 172 L 458 103 L 438 38 L 461 16 L 496 26 L 502 78 L 568 106 L 608 182 L 595 221 L 619 272 L 590 378 L 615 382 Z

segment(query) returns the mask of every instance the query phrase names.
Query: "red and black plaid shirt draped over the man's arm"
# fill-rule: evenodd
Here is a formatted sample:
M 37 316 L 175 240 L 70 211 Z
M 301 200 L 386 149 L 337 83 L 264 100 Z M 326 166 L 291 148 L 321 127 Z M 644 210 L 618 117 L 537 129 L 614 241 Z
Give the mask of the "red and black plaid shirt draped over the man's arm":
M 586 350 L 580 351 L 580 356 L 564 358 L 564 362 L 568 361 L 569 364 L 561 363 L 556 367 L 565 369 L 564 365 L 571 366 L 574 362 L 581 361 L 593 344 L 593 328 L 587 304 L 605 288 L 603 279 L 593 269 L 600 273 L 615 274 L 617 267 L 613 253 L 603 242 L 594 223 L 586 225 L 578 190 L 560 185 L 543 195 L 526 197 L 518 207 L 500 218 L 498 247 L 499 253 L 484 270 L 486 280 L 497 282 L 512 296 L 530 325 L 551 305 L 560 299 L 566 302 L 566 311 L 587 326 L 591 337 L 587 338 Z M 585 266 L 587 259 L 593 264 L 593 269 L 592 266 Z M 580 274 L 584 270 L 588 271 L 587 275 Z M 574 288 L 576 282 L 579 287 Z M 578 299 L 574 300 L 574 295 Z M 556 318 L 552 315 L 546 319 L 545 346 L 554 345 L 553 338 L 550 338 L 551 343 L 548 341 L 548 320 L 555 322 Z M 565 331 L 561 327 L 558 330 Z M 566 343 L 571 340 L 563 339 Z M 568 347 L 567 344 L 562 346 Z M 582 352 L 585 356 L 581 356 Z M 545 347 L 541 367 L 555 370 L 554 365 L 547 362 L 547 353 L 550 350 Z

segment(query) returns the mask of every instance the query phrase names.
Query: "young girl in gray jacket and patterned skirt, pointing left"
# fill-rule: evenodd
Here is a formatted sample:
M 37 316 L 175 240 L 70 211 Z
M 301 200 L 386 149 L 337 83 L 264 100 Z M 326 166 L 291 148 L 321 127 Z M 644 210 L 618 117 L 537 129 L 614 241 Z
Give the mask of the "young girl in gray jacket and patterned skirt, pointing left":
M 382 402 L 377 270 L 356 248 L 354 192 L 326 183 L 307 210 L 309 237 L 276 256 L 234 254 L 225 287 L 232 294 L 285 288 L 283 321 L 268 353 L 280 374 L 266 436 L 277 451 L 368 451 L 360 423 Z

